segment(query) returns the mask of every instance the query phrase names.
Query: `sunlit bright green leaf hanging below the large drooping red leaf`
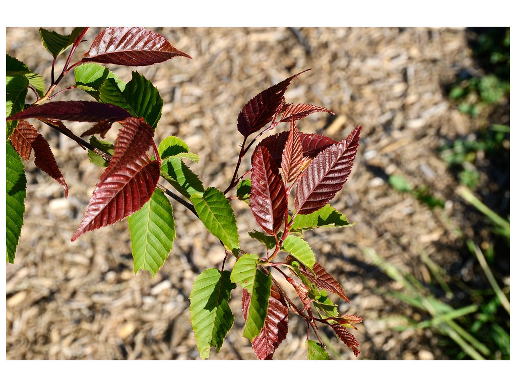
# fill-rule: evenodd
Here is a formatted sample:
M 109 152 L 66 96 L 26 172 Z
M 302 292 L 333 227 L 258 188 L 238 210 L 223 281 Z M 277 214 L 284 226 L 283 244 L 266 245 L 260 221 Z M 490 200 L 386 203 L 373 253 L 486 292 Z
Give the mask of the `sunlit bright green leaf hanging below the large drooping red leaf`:
M 127 220 L 134 272 L 148 270 L 154 278 L 168 258 L 175 238 L 172 205 L 165 194 L 156 189 L 151 199 Z

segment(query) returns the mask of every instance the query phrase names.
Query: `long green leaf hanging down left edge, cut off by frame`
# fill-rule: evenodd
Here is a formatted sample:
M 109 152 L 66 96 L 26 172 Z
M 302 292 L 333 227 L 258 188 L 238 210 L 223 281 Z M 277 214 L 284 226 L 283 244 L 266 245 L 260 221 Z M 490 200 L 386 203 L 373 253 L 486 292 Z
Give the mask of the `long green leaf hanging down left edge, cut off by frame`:
M 25 214 L 27 180 L 20 155 L 11 141 L 6 142 L 6 261 L 14 263 L 14 254 L 20 239 Z

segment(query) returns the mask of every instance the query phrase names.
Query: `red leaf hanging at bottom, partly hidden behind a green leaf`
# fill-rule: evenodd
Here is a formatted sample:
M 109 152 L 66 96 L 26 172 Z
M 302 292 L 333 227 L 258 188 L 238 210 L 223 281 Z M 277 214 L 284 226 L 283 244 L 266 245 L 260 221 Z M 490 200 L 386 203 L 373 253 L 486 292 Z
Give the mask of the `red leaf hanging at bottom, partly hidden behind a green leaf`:
M 251 296 L 244 289 L 242 310 L 247 320 Z M 274 351 L 281 344 L 288 332 L 288 305 L 276 285 L 270 287 L 269 307 L 262 331 L 251 342 L 251 346 L 259 360 L 272 360 Z

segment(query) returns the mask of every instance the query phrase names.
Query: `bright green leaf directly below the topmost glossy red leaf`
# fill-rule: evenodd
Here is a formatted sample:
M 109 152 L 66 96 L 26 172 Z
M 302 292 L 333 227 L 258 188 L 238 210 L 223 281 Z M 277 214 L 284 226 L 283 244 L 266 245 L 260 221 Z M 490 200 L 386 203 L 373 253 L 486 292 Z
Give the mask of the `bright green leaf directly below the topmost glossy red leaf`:
M 112 85 L 116 87 L 116 91 L 125 88 L 125 82 L 107 67 L 97 63 L 84 63 L 75 68 L 75 87 L 86 91 L 98 102 L 100 102 L 100 89 L 108 78 L 113 80 Z

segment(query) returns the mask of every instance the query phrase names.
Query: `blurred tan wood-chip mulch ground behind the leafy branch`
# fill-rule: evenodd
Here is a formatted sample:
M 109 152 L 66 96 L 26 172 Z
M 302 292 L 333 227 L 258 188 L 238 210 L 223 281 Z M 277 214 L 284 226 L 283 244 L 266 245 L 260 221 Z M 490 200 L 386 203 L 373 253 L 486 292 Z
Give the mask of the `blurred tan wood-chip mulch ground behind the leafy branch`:
M 261 90 L 313 69 L 294 80 L 286 100 L 325 106 L 336 115 L 313 115 L 302 120 L 299 129 L 341 140 L 356 125 L 363 127 L 351 175 L 332 201 L 357 224 L 305 235 L 317 260 L 350 298 L 350 304 L 340 305 L 341 312 L 364 319 L 355 333 L 360 342 L 358 359 L 446 359 L 439 336 L 430 331 L 391 329 L 395 316 L 417 320 L 421 315 L 384 294 L 400 285 L 383 275 L 363 249 L 374 248 L 419 279 L 428 276 L 421 252 L 446 269 L 455 265 L 463 276 L 475 275 L 467 266 L 472 263 L 460 258 L 462 246 L 454 229 L 471 235 L 475 231 L 454 193 L 456 178 L 437 152 L 444 141 L 467 136 L 483 124 L 460 114 L 443 87 L 460 70 L 474 66 L 467 30 L 152 29 L 193 59 L 110 69 L 126 82 L 131 70 L 152 80 L 165 102 L 156 143 L 170 135 L 184 139 L 201 157 L 191 168 L 205 186 L 223 189 L 231 179 L 241 141 L 236 131 L 241 107 Z M 91 28 L 86 38 L 91 41 L 100 30 Z M 6 33 L 7 53 L 49 82 L 51 58 L 38 29 L 8 27 Z M 80 47 L 82 54 L 88 43 Z M 60 66 L 62 62 L 59 70 Z M 71 85 L 73 75 L 67 78 L 63 87 Z M 176 240 L 168 261 L 152 280 L 148 272 L 133 273 L 126 221 L 72 243 L 102 170 L 90 164 L 86 152 L 73 141 L 39 127 L 51 143 L 70 194 L 65 200 L 59 184 L 34 162 L 27 164 L 25 224 L 15 264 L 6 264 L 7 359 L 199 359 L 188 295 L 202 270 L 220 267 L 224 253 L 218 241 L 173 202 Z M 70 127 L 80 134 L 85 126 Z M 114 136 L 111 133 L 108 139 Z M 244 164 L 249 165 L 248 158 Z M 429 186 L 446 202 L 445 208 L 432 211 L 413 196 L 392 189 L 387 182 L 391 174 L 405 176 L 414 186 Z M 235 203 L 234 208 L 242 243 L 252 251 L 257 246 L 246 232 L 257 225 L 245 205 Z M 235 326 L 220 353 L 212 350 L 209 359 L 255 359 L 241 335 L 238 288 L 231 307 Z M 354 359 L 331 332 L 321 332 L 328 335 L 333 358 Z M 289 334 L 275 359 L 305 359 L 304 337 L 304 322 L 291 315 Z

